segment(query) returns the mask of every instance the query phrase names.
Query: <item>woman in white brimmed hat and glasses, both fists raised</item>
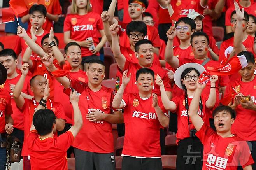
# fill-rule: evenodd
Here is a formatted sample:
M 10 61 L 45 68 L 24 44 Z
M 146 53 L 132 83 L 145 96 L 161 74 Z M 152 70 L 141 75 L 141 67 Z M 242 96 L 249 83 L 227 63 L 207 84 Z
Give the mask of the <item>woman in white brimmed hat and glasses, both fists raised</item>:
M 202 65 L 197 63 L 186 63 L 177 68 L 174 74 L 175 84 L 179 88 L 185 91 L 185 95 L 176 96 L 169 101 L 167 95 L 165 95 L 164 85 L 161 77 L 156 77 L 156 84 L 160 86 L 161 99 L 163 106 L 166 110 L 176 112 L 178 117 L 178 131 L 177 137 L 177 170 L 202 170 L 203 159 L 203 144 L 196 137 L 195 127 L 193 126 L 189 116 L 188 109 L 196 91 L 196 81 L 199 79 L 199 75 L 205 71 Z M 198 115 L 200 115 L 209 126 L 209 111 L 212 109 L 216 102 L 215 82 L 218 76 L 212 75 L 211 77 L 211 90 L 210 95 L 202 95 L 200 100 L 200 107 L 198 108 Z M 192 160 L 193 159 L 193 160 Z

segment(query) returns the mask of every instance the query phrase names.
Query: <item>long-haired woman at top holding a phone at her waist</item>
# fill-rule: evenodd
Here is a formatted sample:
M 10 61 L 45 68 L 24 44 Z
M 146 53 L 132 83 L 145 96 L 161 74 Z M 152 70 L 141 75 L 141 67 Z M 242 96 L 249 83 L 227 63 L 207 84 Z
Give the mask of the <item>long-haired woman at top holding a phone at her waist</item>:
M 81 54 L 77 56 L 82 56 L 81 69 L 85 71 L 91 60 L 100 59 L 99 51 L 107 40 L 103 29 L 100 15 L 91 10 L 90 0 L 72 0 L 71 14 L 64 21 L 64 42 L 77 42 L 81 46 Z

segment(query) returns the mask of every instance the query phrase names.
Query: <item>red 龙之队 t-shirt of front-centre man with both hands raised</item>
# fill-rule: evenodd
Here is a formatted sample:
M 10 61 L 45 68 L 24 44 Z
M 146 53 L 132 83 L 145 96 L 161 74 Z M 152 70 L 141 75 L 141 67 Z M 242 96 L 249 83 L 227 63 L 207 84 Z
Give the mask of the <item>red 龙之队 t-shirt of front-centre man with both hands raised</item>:
M 160 128 L 156 110 L 152 105 L 152 96 L 142 99 L 139 93 L 123 95 L 125 136 L 122 156 L 161 158 Z M 158 105 L 168 116 L 158 96 Z

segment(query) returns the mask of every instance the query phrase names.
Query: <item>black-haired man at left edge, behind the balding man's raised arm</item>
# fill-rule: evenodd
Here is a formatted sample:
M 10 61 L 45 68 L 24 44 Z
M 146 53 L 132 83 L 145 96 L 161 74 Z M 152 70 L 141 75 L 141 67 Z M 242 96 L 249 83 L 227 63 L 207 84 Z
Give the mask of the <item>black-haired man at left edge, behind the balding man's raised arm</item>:
M 23 114 L 19 111 L 19 109 L 16 107 L 16 103 L 13 99 L 13 90 L 18 82 L 19 78 L 21 77 L 21 74 L 17 72 L 16 65 L 18 64 L 17 56 L 15 52 L 12 49 L 4 49 L 0 51 L 0 63 L 4 65 L 4 67 L 7 70 L 7 80 L 4 84 L 2 84 L 2 88 L 4 88 L 6 91 L 9 92 L 11 96 L 11 102 L 12 102 L 12 119 L 14 119 L 13 124 L 13 133 L 15 137 L 17 137 L 21 144 L 23 144 L 24 140 L 24 124 L 23 124 Z M 30 91 L 30 81 L 31 77 L 26 77 L 24 86 L 21 92 L 21 95 L 23 95 L 24 98 L 32 99 L 33 96 L 30 96 L 32 92 Z

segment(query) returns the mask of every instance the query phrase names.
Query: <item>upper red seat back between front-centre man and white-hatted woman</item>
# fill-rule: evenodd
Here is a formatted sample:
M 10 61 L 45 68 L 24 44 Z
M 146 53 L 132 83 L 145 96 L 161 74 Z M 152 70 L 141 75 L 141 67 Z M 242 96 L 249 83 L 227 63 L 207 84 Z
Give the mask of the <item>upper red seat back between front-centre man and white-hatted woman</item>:
M 176 134 L 165 137 L 165 151 L 168 155 L 177 154 Z

